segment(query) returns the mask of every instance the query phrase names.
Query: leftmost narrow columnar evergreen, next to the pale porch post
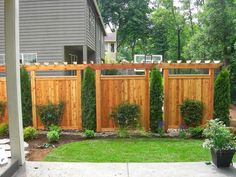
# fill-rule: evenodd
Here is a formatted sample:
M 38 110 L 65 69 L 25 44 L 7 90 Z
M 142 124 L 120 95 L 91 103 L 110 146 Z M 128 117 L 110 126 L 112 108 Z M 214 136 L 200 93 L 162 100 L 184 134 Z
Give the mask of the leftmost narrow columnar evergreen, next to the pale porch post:
M 28 127 L 32 125 L 32 100 L 30 77 L 24 67 L 20 70 L 20 79 L 23 126 Z

